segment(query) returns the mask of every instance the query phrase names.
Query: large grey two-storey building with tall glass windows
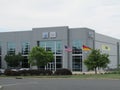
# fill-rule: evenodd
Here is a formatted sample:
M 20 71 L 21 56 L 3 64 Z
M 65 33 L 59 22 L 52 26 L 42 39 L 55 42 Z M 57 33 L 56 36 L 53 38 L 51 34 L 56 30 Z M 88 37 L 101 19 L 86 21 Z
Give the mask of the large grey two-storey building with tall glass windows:
M 100 49 L 110 55 L 109 68 L 117 68 L 119 64 L 120 40 L 96 33 L 89 28 L 45 27 L 28 31 L 0 33 L 0 68 L 7 68 L 4 60 L 6 54 L 22 53 L 23 68 L 31 68 L 28 64 L 28 53 L 34 46 L 44 47 L 54 54 L 54 61 L 48 63 L 47 69 L 68 68 L 72 71 L 87 71 L 83 61 L 90 53 L 84 47 Z M 84 47 L 83 47 L 84 46 Z

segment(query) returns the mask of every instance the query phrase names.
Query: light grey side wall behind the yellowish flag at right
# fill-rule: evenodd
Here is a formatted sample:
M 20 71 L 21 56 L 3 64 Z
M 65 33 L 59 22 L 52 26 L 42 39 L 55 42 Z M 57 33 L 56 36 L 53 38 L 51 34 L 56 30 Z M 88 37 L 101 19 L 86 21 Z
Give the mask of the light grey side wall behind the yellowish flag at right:
M 117 68 L 117 42 L 118 39 L 108 37 L 102 34 L 95 34 L 95 48 L 100 49 L 102 53 L 109 54 L 110 68 Z

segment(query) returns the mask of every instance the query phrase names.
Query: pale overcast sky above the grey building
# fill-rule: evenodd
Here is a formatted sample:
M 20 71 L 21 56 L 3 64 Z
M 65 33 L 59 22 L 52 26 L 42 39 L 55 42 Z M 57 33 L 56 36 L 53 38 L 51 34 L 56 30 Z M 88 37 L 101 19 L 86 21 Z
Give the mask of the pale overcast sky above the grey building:
M 0 0 L 0 32 L 87 27 L 120 39 L 120 0 Z

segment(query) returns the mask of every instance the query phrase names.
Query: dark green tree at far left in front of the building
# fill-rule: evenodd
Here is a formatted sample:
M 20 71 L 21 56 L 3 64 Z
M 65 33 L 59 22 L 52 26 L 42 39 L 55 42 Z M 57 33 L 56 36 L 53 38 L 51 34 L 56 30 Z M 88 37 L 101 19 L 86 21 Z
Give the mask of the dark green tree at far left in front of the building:
M 7 55 L 5 55 L 5 61 L 6 61 L 6 63 L 7 63 L 7 65 L 9 66 L 9 67 L 14 67 L 14 68 L 16 68 L 16 67 L 18 67 L 18 66 L 20 66 L 20 62 L 24 59 L 23 58 L 23 56 L 21 55 L 21 53 L 18 53 L 18 54 L 12 54 L 12 55 L 10 55 L 10 54 L 7 54 Z

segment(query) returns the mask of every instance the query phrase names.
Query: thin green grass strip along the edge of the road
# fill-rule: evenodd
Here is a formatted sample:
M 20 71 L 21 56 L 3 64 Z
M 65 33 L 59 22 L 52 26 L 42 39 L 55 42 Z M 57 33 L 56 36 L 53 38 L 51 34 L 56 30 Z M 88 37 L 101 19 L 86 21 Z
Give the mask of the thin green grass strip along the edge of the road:
M 59 76 L 5 76 L 0 78 L 75 78 L 75 79 L 119 79 L 120 74 L 86 74 L 86 75 L 59 75 Z

